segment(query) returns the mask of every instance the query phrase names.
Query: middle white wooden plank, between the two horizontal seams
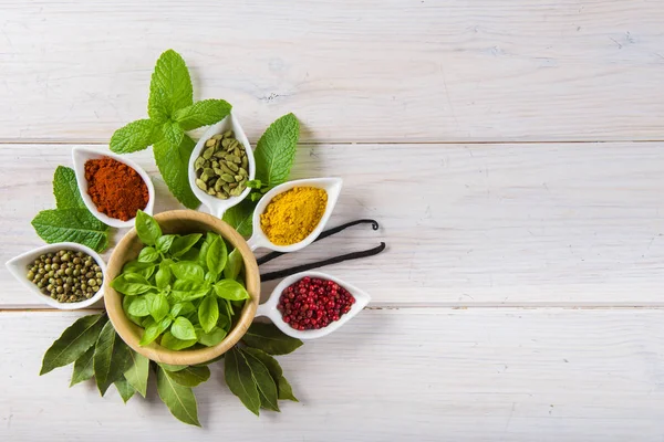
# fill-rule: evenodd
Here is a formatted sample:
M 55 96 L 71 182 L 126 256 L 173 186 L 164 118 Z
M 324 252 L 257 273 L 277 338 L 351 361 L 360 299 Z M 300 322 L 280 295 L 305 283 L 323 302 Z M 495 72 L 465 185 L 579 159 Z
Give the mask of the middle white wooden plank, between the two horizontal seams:
M 299 149 L 293 178 L 344 178 L 330 227 L 375 218 L 282 256 L 264 272 L 388 244 L 328 270 L 374 305 L 663 305 L 661 143 L 323 145 Z M 69 146 L 0 148 L 0 261 L 40 245 L 30 220 L 54 206 Z M 157 211 L 177 207 L 149 152 Z M 106 254 L 107 256 L 107 254 Z M 0 306 L 38 306 L 0 269 Z M 268 292 L 272 285 L 263 285 Z

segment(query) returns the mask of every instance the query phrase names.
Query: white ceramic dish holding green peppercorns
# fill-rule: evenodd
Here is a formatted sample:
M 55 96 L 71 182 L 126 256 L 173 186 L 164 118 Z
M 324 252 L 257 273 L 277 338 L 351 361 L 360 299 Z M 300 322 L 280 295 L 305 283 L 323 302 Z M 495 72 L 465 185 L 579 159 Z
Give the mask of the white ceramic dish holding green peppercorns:
M 81 301 L 79 303 L 59 303 L 58 301 L 51 298 L 50 296 L 44 295 L 41 291 L 32 283 L 32 281 L 28 281 L 25 276 L 28 273 L 28 265 L 32 263 L 34 260 L 39 257 L 39 255 L 49 253 L 49 252 L 58 252 L 59 250 L 74 250 L 76 252 L 83 252 L 92 256 L 94 261 L 96 261 L 97 265 L 102 267 L 102 273 L 104 277 L 106 277 L 106 264 L 102 257 L 94 250 L 77 244 L 75 242 L 56 242 L 54 244 L 44 245 L 39 249 L 34 249 L 30 252 L 23 253 L 17 257 L 9 260 L 6 265 L 9 273 L 13 275 L 19 282 L 21 282 L 40 302 L 50 305 L 54 308 L 60 308 L 62 311 L 75 311 L 79 308 L 85 308 L 96 303 L 104 296 L 104 287 L 100 287 L 100 291 L 94 294 L 90 299 Z

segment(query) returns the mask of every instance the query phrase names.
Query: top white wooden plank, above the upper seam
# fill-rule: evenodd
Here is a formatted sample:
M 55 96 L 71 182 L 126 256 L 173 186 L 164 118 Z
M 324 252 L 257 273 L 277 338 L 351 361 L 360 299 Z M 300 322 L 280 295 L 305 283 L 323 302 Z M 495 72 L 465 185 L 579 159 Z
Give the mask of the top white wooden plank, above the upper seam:
M 0 141 L 107 141 L 145 117 L 159 53 L 257 138 L 663 139 L 656 1 L 0 2 Z

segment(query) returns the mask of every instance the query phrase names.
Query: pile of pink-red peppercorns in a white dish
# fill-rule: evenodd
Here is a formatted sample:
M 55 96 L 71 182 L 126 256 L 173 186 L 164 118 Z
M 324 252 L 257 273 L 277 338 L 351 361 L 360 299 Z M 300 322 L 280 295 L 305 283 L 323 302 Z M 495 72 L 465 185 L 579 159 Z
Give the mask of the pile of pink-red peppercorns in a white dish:
M 281 293 L 277 309 L 293 329 L 311 330 L 339 320 L 354 303 L 353 295 L 334 281 L 305 276 Z

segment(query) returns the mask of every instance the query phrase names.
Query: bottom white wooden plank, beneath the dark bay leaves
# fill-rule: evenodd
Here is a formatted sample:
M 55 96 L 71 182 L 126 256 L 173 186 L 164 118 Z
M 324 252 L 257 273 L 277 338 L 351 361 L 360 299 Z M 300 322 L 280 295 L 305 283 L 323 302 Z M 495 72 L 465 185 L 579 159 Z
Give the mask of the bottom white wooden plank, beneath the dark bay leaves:
M 1 313 L 0 438 L 190 440 L 155 386 L 123 406 L 112 388 L 39 377 L 43 351 L 76 314 Z M 222 381 L 197 388 L 207 436 L 237 441 L 660 441 L 664 312 L 364 312 L 279 357 L 300 403 L 259 419 Z M 30 388 L 27 388 L 30 386 Z

